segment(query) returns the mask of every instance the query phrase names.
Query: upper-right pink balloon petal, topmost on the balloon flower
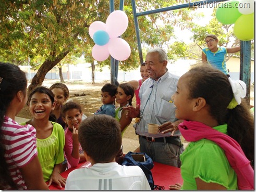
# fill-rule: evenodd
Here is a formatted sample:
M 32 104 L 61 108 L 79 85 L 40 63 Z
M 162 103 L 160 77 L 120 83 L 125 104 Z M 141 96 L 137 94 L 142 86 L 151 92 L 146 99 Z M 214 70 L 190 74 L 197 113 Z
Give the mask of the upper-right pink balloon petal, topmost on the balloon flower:
M 106 20 L 106 32 L 110 38 L 118 37 L 125 32 L 128 27 L 128 17 L 124 11 L 113 11 Z

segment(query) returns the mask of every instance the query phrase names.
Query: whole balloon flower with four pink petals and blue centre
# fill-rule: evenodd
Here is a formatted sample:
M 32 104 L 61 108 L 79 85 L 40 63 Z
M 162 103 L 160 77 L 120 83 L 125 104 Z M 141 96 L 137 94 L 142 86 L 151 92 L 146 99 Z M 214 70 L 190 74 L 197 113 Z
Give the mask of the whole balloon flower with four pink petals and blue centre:
M 107 17 L 106 23 L 94 21 L 89 27 L 89 34 L 95 45 L 92 47 L 92 57 L 104 61 L 109 54 L 116 60 L 128 59 L 131 54 L 129 44 L 119 38 L 128 27 L 128 17 L 124 11 L 113 11 Z

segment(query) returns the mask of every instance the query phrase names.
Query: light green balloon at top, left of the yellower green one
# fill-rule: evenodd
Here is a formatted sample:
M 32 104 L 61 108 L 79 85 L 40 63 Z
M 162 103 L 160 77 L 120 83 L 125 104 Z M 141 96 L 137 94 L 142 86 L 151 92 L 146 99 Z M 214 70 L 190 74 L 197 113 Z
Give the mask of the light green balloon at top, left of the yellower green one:
M 238 1 L 227 1 L 218 4 L 216 19 L 222 24 L 233 24 L 242 15 L 238 10 Z

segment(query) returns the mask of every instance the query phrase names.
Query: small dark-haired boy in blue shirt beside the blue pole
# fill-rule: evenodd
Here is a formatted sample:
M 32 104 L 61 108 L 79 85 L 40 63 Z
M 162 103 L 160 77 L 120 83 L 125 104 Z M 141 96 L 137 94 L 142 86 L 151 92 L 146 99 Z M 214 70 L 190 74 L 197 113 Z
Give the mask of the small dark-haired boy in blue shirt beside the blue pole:
M 114 101 L 116 98 L 116 89 L 116 85 L 110 83 L 105 84 L 101 88 L 101 101 L 103 105 L 94 114 L 107 114 L 115 117 Z

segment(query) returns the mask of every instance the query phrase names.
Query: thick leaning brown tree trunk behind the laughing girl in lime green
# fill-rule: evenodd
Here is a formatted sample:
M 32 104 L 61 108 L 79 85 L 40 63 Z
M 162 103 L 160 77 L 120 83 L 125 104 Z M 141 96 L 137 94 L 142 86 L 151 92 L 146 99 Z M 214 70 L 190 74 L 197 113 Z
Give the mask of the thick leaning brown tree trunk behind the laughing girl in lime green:
M 39 68 L 38 72 L 34 75 L 29 87 L 28 87 L 28 95 L 32 92 L 35 87 L 41 86 L 43 84 L 45 75 L 48 71 L 54 68 L 66 55 L 69 53 L 69 50 L 63 52 L 55 57 L 54 60 L 45 60 L 41 67 Z M 54 55 L 54 54 L 53 54 Z

